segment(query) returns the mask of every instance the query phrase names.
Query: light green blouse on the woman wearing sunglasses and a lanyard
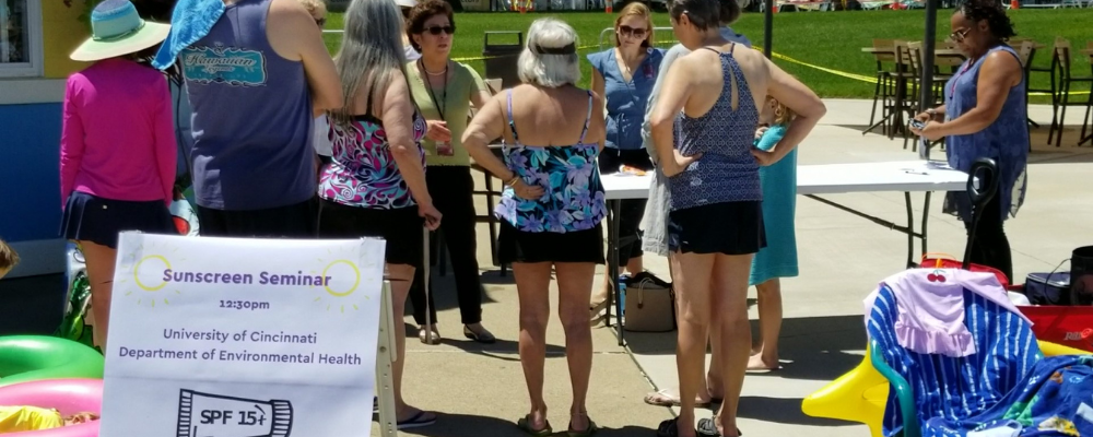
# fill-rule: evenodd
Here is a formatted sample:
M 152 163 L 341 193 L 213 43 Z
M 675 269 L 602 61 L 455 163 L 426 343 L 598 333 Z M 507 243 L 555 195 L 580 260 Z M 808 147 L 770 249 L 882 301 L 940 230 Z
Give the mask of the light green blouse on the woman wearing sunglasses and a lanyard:
M 468 114 L 471 107 L 471 95 L 478 92 L 486 92 L 485 82 L 474 71 L 465 63 L 451 62 L 454 69 L 448 78 L 447 88 L 427 88 L 425 79 L 421 76 L 418 62 L 407 63 L 407 76 L 410 79 L 410 94 L 413 96 L 418 107 L 421 108 L 422 116 L 427 120 L 444 120 L 451 131 L 451 156 L 442 156 L 436 153 L 436 142 L 428 138 L 421 140 L 421 145 L 425 149 L 426 165 L 453 165 L 470 166 L 471 158 L 463 149 L 462 137 L 467 131 Z M 439 106 L 440 110 L 437 110 Z M 444 113 L 444 117 L 440 117 Z

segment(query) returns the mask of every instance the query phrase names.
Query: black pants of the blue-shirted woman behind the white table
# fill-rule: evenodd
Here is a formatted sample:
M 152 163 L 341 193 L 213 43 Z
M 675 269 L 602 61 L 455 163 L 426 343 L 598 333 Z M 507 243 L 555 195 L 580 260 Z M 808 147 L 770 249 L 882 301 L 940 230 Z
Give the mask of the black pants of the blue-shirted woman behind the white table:
M 601 175 L 619 173 L 620 165 L 640 168 L 649 172 L 656 168 L 649 153 L 643 149 L 618 150 L 604 147 L 597 158 Z M 619 238 L 631 237 L 631 241 L 619 245 L 620 262 L 626 263 L 632 258 L 640 258 L 642 251 L 642 217 L 645 216 L 647 199 L 623 199 L 619 205 Z

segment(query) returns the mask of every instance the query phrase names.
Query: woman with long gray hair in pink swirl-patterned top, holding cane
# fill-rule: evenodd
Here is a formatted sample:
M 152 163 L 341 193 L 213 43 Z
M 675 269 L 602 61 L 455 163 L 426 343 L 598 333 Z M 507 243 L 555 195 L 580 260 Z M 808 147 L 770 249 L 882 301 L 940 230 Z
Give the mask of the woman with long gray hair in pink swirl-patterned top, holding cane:
M 380 237 L 393 310 L 402 315 L 414 270 L 422 268 L 424 232 L 440 213 L 425 185 L 425 118 L 410 98 L 402 20 L 391 0 L 353 0 L 334 58 L 346 104 L 331 115 L 331 163 L 319 181 L 321 238 Z M 402 399 L 406 331 L 395 330 L 395 410 L 399 429 L 432 425 L 436 415 Z

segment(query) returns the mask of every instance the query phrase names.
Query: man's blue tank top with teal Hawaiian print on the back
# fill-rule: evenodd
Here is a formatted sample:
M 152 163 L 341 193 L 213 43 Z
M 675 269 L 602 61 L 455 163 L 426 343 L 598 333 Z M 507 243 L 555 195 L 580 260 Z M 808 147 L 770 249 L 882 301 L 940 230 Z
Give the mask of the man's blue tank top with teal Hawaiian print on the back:
M 193 111 L 193 192 L 201 206 L 260 210 L 316 192 L 304 64 L 266 37 L 271 0 L 240 0 L 179 55 Z

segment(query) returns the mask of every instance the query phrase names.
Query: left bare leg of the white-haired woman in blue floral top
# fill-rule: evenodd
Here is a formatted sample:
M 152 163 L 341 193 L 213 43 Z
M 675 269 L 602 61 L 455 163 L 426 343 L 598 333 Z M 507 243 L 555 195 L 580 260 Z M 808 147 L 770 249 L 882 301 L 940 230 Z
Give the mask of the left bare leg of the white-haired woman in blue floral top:
M 532 429 L 543 429 L 546 426 L 543 366 L 546 361 L 546 322 L 550 320 L 551 264 L 514 262 L 513 275 L 516 276 L 516 291 L 520 296 L 520 364 L 524 365 L 524 379 L 531 399 L 529 425 Z M 587 302 L 585 298 L 580 306 L 584 307 Z M 587 329 L 584 308 L 580 314 L 581 323 Z M 568 341 L 566 335 L 566 343 Z

